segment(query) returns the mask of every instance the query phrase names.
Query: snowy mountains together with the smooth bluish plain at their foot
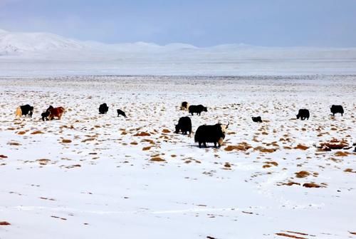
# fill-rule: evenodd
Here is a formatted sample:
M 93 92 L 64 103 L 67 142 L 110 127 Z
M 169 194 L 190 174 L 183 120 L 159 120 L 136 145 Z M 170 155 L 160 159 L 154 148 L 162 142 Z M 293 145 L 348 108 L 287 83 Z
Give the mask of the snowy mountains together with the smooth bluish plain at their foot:
M 1 63 L 3 62 L 3 63 Z M 6 64 L 5 64 L 6 63 Z M 46 73 L 45 73 L 46 72 Z M 103 44 L 0 30 L 0 75 L 356 73 L 356 48 Z

